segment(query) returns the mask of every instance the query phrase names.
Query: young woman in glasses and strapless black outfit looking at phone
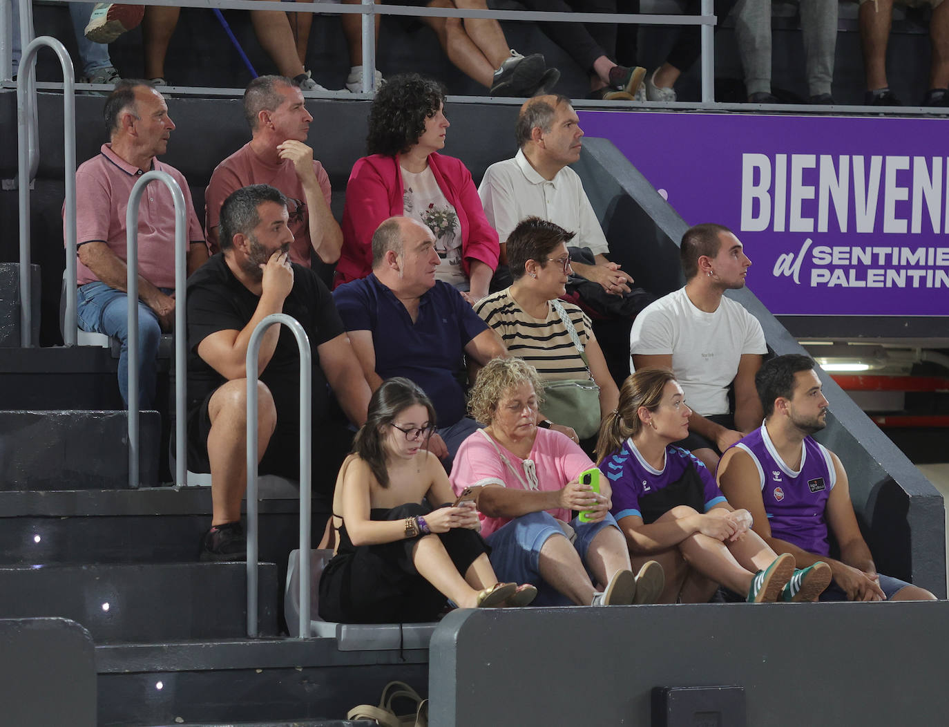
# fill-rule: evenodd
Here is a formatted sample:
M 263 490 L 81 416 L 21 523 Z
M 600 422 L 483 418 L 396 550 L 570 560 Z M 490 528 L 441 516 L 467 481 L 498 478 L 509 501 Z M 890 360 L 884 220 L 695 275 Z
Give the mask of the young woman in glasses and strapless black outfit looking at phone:
M 432 402 L 408 379 L 373 394 L 333 494 L 338 546 L 320 578 L 326 621 L 418 623 L 434 621 L 448 599 L 526 606 L 536 595 L 497 582 L 473 503 L 452 504 L 445 470 L 425 449 L 434 428 Z

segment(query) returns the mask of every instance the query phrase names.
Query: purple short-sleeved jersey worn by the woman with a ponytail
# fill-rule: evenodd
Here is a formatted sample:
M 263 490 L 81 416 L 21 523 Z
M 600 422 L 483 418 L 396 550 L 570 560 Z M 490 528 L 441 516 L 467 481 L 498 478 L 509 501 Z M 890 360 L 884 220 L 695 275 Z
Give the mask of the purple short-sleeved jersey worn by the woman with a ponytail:
M 725 502 L 725 495 L 718 489 L 715 477 L 688 450 L 670 444 L 665 448 L 665 465 L 657 470 L 646 463 L 633 440 L 626 439 L 618 452 L 600 463 L 600 471 L 609 478 L 613 488 L 613 509 L 610 513 L 617 521 L 627 515 L 642 517 L 640 497 L 676 482 L 685 472 L 689 461 L 702 481 L 705 511 L 708 512 L 719 502 Z

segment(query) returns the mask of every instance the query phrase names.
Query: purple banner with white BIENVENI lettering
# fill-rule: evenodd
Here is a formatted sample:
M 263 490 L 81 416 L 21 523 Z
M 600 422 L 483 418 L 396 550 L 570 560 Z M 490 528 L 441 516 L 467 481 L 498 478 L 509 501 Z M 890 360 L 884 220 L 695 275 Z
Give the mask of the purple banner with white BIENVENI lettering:
M 949 315 L 949 121 L 584 111 L 776 315 Z M 940 156 L 941 152 L 941 156 Z

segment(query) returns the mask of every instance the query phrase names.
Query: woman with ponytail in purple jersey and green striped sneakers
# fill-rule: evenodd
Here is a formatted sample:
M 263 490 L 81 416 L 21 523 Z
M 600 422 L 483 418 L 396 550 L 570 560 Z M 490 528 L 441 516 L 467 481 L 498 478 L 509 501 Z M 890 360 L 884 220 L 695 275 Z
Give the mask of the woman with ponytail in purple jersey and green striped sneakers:
M 719 584 L 753 603 L 812 601 L 829 583 L 827 564 L 794 569 L 793 556 L 777 555 L 751 530 L 747 510 L 728 504 L 705 465 L 672 446 L 688 435 L 691 413 L 671 371 L 643 368 L 623 382 L 604 420 L 598 465 L 633 567 L 661 563 L 661 603 L 705 603 Z

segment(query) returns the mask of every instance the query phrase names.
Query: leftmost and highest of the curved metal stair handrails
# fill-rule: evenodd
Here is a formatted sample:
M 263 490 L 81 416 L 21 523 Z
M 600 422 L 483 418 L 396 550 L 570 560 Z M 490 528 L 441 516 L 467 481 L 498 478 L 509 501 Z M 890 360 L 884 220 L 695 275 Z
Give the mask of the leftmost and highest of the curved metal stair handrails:
M 22 7 L 21 7 L 22 12 Z M 24 19 L 21 15 L 20 25 Z M 34 72 L 36 54 L 41 47 L 50 47 L 59 57 L 63 68 L 63 152 L 65 156 L 63 176 L 65 177 L 65 238 L 71 245 L 72 255 L 66 255 L 66 274 L 72 270 L 72 280 L 76 280 L 76 98 L 74 93 L 72 60 L 65 47 L 55 38 L 40 36 L 23 51 L 20 72 L 16 79 L 16 132 L 17 132 L 17 198 L 20 215 L 20 346 L 27 348 L 32 344 L 32 294 L 30 289 L 29 254 L 29 183 L 36 176 L 40 155 L 36 140 L 39 134 L 36 125 L 36 86 Z M 70 266 L 71 261 L 71 268 Z M 72 287 L 73 321 L 76 318 L 76 289 Z M 68 290 L 69 287 L 66 287 Z M 75 326 L 74 326 L 75 327 Z M 72 343 L 76 343 L 73 332 Z

